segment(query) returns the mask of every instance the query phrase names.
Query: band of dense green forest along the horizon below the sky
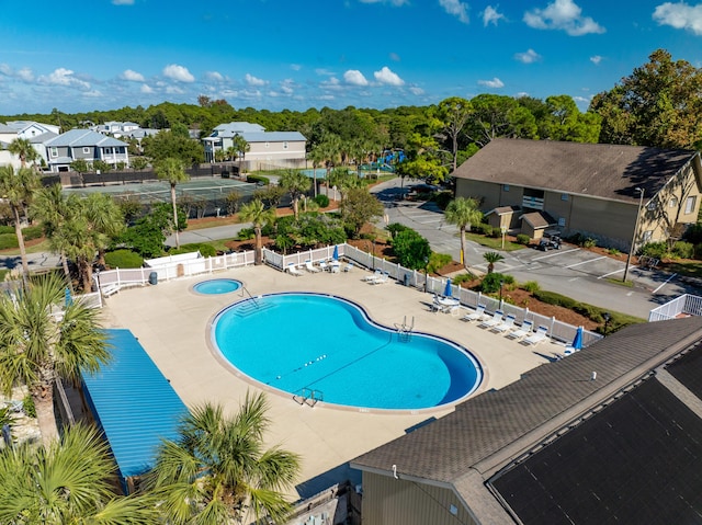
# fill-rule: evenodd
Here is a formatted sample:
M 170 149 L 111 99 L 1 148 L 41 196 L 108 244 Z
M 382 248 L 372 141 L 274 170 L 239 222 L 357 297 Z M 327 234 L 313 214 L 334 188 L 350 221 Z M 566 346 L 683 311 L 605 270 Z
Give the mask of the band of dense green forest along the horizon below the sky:
M 495 137 L 609 142 L 663 148 L 702 148 L 702 72 L 658 49 L 610 91 L 597 94 L 586 112 L 565 94 L 545 100 L 498 94 L 450 98 L 435 105 L 385 110 L 309 109 L 270 112 L 235 109 L 226 100 L 201 95 L 193 104 L 163 102 L 149 107 L 122 107 L 66 114 L 0 116 L 31 119 L 67 130 L 107 121 L 131 121 L 145 128 L 197 129 L 201 136 L 223 123 L 249 122 L 268 132 L 297 130 L 307 138 L 309 158 L 320 166 L 403 149 L 407 174 L 433 172 L 442 179 Z

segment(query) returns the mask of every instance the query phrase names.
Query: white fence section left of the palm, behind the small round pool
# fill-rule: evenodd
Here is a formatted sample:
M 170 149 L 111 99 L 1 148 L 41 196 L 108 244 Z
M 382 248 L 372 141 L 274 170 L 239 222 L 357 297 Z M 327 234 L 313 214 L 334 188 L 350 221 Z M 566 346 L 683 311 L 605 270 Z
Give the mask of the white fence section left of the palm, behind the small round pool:
M 171 263 L 159 264 L 156 267 L 116 269 L 100 272 L 94 275 L 98 288 L 103 296 L 128 286 L 144 286 L 152 281 L 169 281 L 179 277 L 213 273 L 233 267 L 253 264 L 253 252 L 227 253 L 224 255 L 197 258 Z

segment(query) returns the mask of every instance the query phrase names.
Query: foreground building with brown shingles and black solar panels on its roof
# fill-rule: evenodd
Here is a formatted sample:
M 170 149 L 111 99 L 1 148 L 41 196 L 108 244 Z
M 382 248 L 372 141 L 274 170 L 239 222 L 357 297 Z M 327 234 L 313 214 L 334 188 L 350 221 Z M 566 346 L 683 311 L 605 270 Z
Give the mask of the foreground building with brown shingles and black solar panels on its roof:
M 701 523 L 702 318 L 627 327 L 353 461 L 365 525 Z

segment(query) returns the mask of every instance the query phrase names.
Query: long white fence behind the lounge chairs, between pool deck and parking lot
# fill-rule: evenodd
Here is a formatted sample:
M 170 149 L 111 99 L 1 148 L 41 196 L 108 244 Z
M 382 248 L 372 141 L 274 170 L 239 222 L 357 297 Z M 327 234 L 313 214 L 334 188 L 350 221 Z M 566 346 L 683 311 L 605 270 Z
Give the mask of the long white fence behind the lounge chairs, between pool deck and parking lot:
M 339 258 L 346 258 L 353 261 L 354 264 L 359 264 L 370 270 L 381 270 L 387 272 L 387 274 L 399 283 L 406 286 L 412 286 L 420 290 L 426 290 L 430 294 L 443 295 L 446 286 L 446 279 L 441 277 L 426 276 L 423 272 L 417 270 L 408 270 L 399 264 L 390 263 L 384 259 L 373 256 L 372 254 L 359 250 L 350 244 L 338 244 L 337 247 Z M 301 265 L 306 261 L 318 262 L 328 261 L 333 254 L 335 247 L 325 247 L 317 250 L 308 250 L 304 252 L 297 252 L 290 255 L 281 255 L 270 250 L 263 250 L 264 261 L 278 267 L 284 270 L 288 264 Z M 548 329 L 548 335 L 564 343 L 569 343 L 575 339 L 578 327 L 568 324 L 566 322 L 558 321 L 555 317 L 546 317 L 540 313 L 535 313 L 529 308 L 521 308 L 516 305 L 510 305 L 505 300 L 500 301 L 494 297 L 489 297 L 480 294 L 479 292 L 473 292 L 461 286 L 451 287 L 452 295 L 461 300 L 461 305 L 475 308 L 478 305 L 485 305 L 485 309 L 488 312 L 495 310 L 502 310 L 506 315 L 511 313 L 516 318 L 516 322 L 521 324 L 525 319 L 533 321 L 534 327 L 544 326 Z M 590 332 L 588 330 L 582 331 L 582 345 L 588 346 L 595 341 L 602 339 L 599 333 Z

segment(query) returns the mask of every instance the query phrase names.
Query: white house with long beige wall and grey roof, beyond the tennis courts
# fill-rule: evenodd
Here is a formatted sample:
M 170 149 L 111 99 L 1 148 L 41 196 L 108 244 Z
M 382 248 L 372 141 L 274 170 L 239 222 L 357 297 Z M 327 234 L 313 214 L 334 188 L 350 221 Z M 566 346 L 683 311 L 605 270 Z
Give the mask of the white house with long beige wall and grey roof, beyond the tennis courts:
M 215 161 L 216 151 L 227 151 L 234 146 L 234 137 L 241 136 L 249 145 L 244 156 L 247 169 L 267 167 L 304 167 L 306 138 L 298 132 L 265 132 L 258 124 L 233 122 L 217 126 L 208 137 L 203 138 L 205 159 Z

